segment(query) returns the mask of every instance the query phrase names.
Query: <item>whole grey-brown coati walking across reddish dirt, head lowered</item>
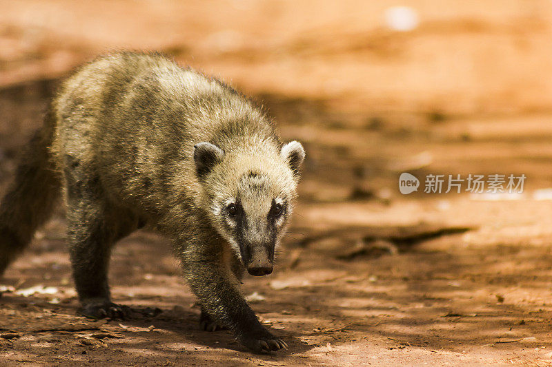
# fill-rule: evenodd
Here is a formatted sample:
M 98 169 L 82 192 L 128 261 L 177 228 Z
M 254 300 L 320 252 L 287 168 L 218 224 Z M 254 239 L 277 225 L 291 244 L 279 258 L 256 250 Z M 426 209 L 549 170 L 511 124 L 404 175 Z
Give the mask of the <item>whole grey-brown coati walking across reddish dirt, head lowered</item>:
M 286 348 L 239 284 L 245 269 L 273 271 L 304 156 L 215 78 L 159 54 L 100 56 L 61 83 L 1 202 L 0 274 L 61 191 L 81 313 L 124 316 L 110 300 L 110 249 L 146 226 L 170 238 L 204 329 L 230 328 L 255 352 Z

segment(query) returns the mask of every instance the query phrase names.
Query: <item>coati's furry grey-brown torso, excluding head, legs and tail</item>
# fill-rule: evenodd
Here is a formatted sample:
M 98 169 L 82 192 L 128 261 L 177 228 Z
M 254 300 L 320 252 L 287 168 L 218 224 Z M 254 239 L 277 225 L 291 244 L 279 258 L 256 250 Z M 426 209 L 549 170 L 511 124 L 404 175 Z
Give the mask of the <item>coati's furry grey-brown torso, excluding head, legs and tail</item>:
M 106 190 L 151 213 L 175 200 L 200 205 L 196 143 L 240 156 L 278 156 L 273 124 L 250 101 L 158 54 L 92 61 L 63 83 L 53 109 L 59 168 L 93 167 Z

